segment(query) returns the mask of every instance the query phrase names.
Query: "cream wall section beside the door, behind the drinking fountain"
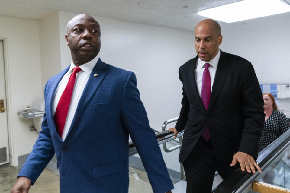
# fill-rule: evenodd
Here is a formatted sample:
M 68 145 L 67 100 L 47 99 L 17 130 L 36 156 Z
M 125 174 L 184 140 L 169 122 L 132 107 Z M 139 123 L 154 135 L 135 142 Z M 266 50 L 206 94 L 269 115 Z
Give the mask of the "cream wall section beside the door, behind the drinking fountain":
M 36 20 L 0 16 L 0 37 L 7 38 L 8 71 L 7 109 L 11 165 L 18 165 L 18 156 L 30 153 L 38 136 L 30 132 L 32 120 L 17 116 L 41 98 L 39 26 Z

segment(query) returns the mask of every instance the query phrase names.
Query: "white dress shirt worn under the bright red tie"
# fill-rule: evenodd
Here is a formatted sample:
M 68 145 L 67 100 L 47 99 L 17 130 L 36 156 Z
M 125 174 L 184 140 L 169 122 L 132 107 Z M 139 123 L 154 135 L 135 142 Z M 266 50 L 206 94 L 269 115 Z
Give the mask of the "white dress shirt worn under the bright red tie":
M 80 65 L 79 67 L 82 69 L 78 73 L 76 73 L 76 81 L 75 85 L 73 87 L 72 91 L 72 98 L 69 104 L 69 111 L 66 116 L 66 123 L 63 128 L 63 136 L 62 140 L 64 141 L 66 138 L 66 135 L 69 132 L 70 125 L 72 124 L 72 119 L 75 116 L 76 108 L 79 103 L 79 99 L 82 96 L 82 92 L 84 91 L 85 85 L 87 84 L 90 74 L 95 67 L 96 63 L 98 62 L 99 57 L 96 56 L 94 59 L 92 59 L 90 62 L 85 63 L 83 65 Z M 69 77 L 72 74 L 72 68 L 76 67 L 76 65 L 71 62 L 69 71 L 63 76 L 60 83 L 58 84 L 56 91 L 54 93 L 52 108 L 53 108 L 53 116 L 56 111 L 57 104 L 60 100 L 61 95 L 63 94 L 64 89 L 66 88 L 66 85 L 69 81 Z

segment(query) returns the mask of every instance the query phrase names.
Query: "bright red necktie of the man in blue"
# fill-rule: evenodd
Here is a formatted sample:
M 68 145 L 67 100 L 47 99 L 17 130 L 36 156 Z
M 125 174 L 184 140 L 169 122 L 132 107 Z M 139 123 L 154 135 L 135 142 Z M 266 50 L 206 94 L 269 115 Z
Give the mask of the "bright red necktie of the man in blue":
M 63 136 L 63 128 L 66 123 L 67 112 L 69 111 L 69 103 L 72 99 L 72 90 L 76 81 L 76 73 L 81 71 L 82 69 L 79 67 L 74 67 L 72 74 L 69 77 L 69 81 L 66 85 L 66 88 L 63 91 L 63 94 L 60 97 L 60 101 L 57 104 L 54 122 L 56 126 L 56 131 L 60 135 L 60 138 Z

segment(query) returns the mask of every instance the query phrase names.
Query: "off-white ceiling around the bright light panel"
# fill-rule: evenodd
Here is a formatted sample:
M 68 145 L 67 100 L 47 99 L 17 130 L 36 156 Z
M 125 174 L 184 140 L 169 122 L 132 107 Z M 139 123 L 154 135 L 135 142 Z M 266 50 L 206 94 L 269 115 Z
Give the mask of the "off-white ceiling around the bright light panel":
M 193 31 L 195 25 L 205 18 L 199 16 L 197 11 L 237 1 L 239 0 L 0 0 L 0 15 L 38 20 L 54 11 L 67 11 Z M 290 0 L 285 1 L 290 3 Z

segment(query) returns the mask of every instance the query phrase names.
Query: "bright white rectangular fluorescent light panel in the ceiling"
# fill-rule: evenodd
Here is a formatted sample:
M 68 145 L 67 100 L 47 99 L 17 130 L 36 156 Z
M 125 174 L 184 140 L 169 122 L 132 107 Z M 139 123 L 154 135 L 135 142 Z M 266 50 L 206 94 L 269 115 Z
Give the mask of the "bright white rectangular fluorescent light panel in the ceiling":
M 232 23 L 289 11 L 290 6 L 280 0 L 243 0 L 198 11 L 198 14 L 214 20 Z

